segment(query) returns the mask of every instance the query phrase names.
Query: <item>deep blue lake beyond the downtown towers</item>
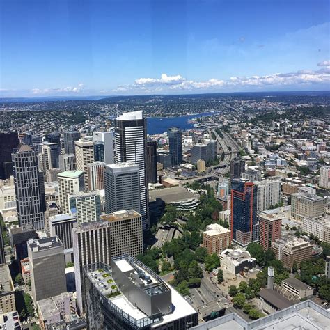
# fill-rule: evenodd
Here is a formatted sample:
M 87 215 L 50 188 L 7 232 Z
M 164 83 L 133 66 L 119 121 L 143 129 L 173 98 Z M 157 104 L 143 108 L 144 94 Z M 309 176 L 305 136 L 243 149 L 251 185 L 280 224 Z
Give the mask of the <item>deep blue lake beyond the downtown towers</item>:
M 188 120 L 192 118 L 198 118 L 203 116 L 210 116 L 214 115 L 215 112 L 205 112 L 205 113 L 198 113 L 196 115 L 189 115 L 189 116 L 180 116 L 180 117 L 150 117 L 147 118 L 147 134 L 162 134 L 167 132 L 168 128 L 175 126 L 179 127 L 180 129 L 187 130 L 194 128 L 194 124 L 189 124 Z

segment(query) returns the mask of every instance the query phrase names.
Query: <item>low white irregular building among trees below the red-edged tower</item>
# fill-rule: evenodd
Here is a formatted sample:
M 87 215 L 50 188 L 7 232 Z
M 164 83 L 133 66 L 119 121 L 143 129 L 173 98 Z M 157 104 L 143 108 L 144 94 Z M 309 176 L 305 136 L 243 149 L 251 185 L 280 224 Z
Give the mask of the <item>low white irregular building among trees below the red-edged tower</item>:
M 248 251 L 226 249 L 219 257 L 221 267 L 234 275 L 256 267 L 256 258 L 252 258 Z

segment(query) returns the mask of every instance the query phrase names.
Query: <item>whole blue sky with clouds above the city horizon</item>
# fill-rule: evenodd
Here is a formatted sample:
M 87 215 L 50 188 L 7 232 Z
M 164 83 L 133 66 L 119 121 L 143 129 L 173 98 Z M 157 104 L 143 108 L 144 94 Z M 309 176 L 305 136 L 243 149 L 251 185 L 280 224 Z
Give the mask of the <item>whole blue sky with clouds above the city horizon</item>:
M 330 89 L 329 0 L 0 0 L 0 97 Z

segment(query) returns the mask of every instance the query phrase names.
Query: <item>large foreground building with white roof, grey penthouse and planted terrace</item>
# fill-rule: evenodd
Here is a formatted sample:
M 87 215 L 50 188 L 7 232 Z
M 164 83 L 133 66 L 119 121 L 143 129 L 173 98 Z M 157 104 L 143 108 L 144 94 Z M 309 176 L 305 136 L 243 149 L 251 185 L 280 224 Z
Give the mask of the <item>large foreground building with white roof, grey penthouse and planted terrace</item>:
M 188 329 L 198 313 L 132 256 L 84 267 L 88 329 Z

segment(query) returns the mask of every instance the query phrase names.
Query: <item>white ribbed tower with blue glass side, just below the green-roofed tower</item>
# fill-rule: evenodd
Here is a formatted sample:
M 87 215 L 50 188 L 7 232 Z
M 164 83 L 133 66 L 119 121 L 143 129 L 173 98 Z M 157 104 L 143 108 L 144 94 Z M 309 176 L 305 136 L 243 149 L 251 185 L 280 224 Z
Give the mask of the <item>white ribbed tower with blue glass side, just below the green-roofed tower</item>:
M 69 195 L 70 213 L 77 217 L 79 225 L 97 221 L 101 215 L 100 196 L 96 191 L 79 192 Z

